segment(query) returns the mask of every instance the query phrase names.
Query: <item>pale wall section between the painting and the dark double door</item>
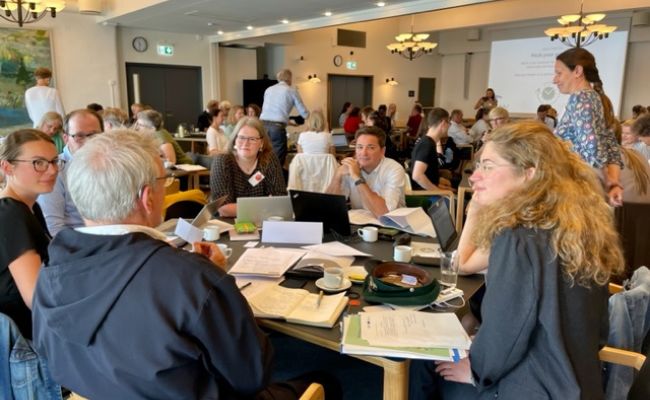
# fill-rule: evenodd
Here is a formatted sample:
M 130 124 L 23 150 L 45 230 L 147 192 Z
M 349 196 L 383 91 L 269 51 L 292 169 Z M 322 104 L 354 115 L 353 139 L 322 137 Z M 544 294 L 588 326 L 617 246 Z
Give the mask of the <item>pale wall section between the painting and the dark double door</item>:
M 16 24 L 0 23 L 3 27 Z M 111 104 L 111 92 L 119 100 L 115 27 L 98 25 L 93 17 L 60 13 L 27 29 L 47 29 L 52 36 L 54 76 L 66 112 L 89 103 Z

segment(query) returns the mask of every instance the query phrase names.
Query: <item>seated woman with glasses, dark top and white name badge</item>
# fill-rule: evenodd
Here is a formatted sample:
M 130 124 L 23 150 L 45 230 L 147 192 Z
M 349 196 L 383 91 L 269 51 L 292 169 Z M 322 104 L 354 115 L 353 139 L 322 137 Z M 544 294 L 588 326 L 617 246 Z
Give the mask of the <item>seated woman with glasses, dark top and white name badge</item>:
M 230 138 L 228 152 L 219 154 L 210 171 L 211 198 L 227 196 L 222 217 L 237 216 L 237 198 L 287 194 L 282 166 L 271 140 L 257 118 L 243 117 Z

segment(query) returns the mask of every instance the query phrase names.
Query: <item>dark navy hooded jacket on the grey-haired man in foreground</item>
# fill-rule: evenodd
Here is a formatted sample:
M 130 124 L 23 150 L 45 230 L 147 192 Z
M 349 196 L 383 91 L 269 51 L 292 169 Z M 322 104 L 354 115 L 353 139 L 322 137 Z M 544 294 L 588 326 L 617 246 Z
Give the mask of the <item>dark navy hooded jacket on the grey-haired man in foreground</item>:
M 146 233 L 59 232 L 33 314 L 52 378 L 87 398 L 252 398 L 268 383 L 270 342 L 234 278 Z

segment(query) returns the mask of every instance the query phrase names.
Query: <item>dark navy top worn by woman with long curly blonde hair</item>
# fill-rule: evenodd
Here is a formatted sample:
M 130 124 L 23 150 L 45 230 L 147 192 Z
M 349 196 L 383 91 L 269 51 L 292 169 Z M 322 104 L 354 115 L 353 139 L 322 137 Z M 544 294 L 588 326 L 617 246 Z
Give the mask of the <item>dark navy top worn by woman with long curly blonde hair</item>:
M 483 324 L 470 349 L 481 398 L 604 398 L 607 287 L 572 284 L 551 234 L 506 229 L 492 243 Z

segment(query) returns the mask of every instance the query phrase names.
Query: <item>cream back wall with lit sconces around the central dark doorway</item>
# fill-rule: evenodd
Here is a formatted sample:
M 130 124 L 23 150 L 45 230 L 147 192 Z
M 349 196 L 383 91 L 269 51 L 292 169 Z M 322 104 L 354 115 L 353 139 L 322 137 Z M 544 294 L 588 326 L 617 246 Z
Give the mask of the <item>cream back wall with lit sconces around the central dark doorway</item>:
M 413 61 L 392 55 L 386 50 L 386 45 L 394 41 L 399 32 L 398 20 L 372 21 L 345 25 L 345 29 L 366 32 L 366 48 L 340 47 L 334 45 L 336 28 L 322 28 L 297 33 L 282 34 L 267 37 L 268 42 L 282 43 L 283 46 L 267 46 L 270 65 L 267 70 L 270 78 L 274 78 L 277 69 L 287 67 L 293 72 L 293 83 L 300 91 L 305 105 L 310 110 L 321 108 L 328 115 L 327 75 L 363 75 L 374 76 L 372 105 L 396 103 L 398 115 L 403 122 L 417 99 L 418 78 L 438 78 L 440 76 L 440 57 L 434 50 L 433 54 L 422 56 Z M 434 38 L 435 40 L 435 38 Z M 350 51 L 354 52 L 350 56 Z M 336 67 L 333 63 L 335 55 L 343 57 L 343 65 Z M 300 61 L 300 57 L 304 60 Z M 345 68 L 348 60 L 357 61 L 357 70 Z M 316 74 L 321 83 L 308 82 L 307 76 Z M 394 77 L 398 86 L 386 84 L 386 78 Z M 439 80 L 436 82 L 436 102 L 439 99 Z M 415 91 L 415 97 L 408 97 L 408 91 Z

